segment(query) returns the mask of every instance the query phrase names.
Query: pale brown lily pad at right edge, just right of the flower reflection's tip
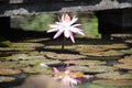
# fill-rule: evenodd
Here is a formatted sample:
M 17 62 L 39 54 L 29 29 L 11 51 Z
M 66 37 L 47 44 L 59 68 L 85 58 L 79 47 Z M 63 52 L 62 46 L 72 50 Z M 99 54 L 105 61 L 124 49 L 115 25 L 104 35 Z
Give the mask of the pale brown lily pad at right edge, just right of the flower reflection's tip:
M 132 79 L 132 74 L 120 74 L 119 72 L 110 72 L 97 74 L 96 77 L 105 79 Z

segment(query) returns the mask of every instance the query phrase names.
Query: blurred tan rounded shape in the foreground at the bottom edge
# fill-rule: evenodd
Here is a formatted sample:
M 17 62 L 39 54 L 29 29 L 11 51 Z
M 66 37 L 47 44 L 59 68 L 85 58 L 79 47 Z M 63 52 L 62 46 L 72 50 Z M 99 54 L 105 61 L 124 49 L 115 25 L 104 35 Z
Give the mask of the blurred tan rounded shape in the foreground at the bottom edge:
M 24 84 L 19 88 L 61 88 L 59 84 L 51 77 L 44 75 L 35 75 L 25 79 Z

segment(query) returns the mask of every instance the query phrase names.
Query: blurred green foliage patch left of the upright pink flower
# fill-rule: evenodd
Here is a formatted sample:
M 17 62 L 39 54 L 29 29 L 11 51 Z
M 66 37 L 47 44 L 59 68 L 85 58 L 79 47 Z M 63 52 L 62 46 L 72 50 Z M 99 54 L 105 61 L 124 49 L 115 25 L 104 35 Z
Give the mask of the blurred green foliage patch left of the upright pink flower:
M 26 31 L 47 31 L 54 19 L 54 14 L 26 15 L 20 28 Z

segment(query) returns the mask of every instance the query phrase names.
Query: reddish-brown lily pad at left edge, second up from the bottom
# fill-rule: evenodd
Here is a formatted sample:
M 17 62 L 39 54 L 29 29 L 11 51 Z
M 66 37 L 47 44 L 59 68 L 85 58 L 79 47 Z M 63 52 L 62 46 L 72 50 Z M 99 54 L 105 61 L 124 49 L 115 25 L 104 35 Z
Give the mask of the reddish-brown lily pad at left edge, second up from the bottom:
M 0 75 L 15 75 L 21 74 L 19 69 L 9 69 L 9 68 L 0 68 Z

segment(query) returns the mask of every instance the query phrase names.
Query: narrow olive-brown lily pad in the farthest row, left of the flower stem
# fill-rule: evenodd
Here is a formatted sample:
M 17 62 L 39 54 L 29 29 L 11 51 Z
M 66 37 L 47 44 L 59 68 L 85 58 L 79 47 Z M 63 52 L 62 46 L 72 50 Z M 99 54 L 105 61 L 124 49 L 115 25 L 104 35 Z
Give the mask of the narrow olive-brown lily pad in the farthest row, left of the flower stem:
M 12 43 L 11 47 L 22 47 L 22 48 L 34 48 L 34 47 L 43 47 L 43 44 L 40 43 Z

